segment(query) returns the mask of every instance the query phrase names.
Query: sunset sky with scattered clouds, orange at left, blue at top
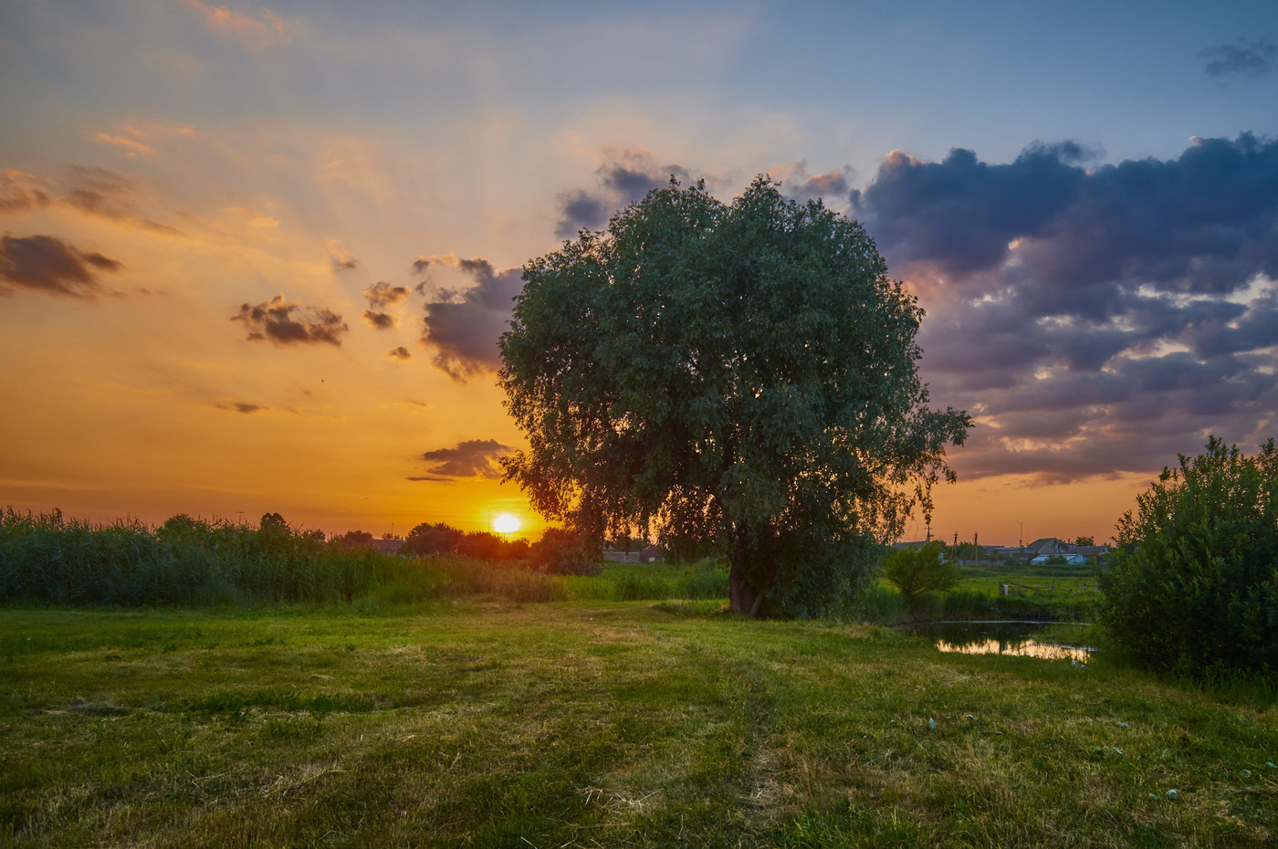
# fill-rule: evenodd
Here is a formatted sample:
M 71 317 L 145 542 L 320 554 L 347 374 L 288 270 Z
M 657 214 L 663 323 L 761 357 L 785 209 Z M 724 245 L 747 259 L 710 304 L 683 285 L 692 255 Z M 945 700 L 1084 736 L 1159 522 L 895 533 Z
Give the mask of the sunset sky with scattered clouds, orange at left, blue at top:
M 934 536 L 1278 435 L 1273 3 L 0 3 L 0 506 L 535 536 L 520 269 L 671 175 L 919 297 Z

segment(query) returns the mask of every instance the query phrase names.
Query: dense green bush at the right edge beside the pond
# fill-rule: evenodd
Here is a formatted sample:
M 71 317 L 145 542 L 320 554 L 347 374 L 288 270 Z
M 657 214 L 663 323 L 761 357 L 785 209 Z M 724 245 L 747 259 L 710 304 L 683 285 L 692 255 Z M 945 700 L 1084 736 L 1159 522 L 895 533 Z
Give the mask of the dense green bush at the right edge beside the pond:
M 1100 619 L 1140 664 L 1197 678 L 1278 673 L 1278 453 L 1210 437 L 1118 520 Z

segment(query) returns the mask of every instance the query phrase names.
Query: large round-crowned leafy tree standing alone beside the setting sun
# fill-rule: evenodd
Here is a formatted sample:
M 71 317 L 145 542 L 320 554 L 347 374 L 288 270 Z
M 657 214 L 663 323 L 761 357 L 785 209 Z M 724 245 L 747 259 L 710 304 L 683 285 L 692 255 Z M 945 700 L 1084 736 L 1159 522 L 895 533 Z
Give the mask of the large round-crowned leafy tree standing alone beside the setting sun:
M 923 311 L 819 201 L 671 180 L 524 280 L 501 382 L 530 448 L 506 478 L 594 538 L 716 540 L 736 611 L 832 610 L 953 477 L 971 421 L 924 405 Z

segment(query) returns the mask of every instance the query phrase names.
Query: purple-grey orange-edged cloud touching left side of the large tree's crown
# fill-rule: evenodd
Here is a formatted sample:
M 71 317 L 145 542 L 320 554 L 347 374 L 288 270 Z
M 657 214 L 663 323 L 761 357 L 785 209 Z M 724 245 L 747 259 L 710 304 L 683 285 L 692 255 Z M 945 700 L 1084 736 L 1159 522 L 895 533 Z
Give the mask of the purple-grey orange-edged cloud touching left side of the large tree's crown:
M 524 288 L 523 271 L 496 271 L 487 260 L 459 260 L 451 253 L 424 262 L 427 267 L 451 266 L 475 283 L 464 292 L 435 290 L 435 299 L 427 302 L 422 343 L 436 350 L 431 363 L 459 382 L 501 368 L 497 339 L 509 330 L 515 295 Z

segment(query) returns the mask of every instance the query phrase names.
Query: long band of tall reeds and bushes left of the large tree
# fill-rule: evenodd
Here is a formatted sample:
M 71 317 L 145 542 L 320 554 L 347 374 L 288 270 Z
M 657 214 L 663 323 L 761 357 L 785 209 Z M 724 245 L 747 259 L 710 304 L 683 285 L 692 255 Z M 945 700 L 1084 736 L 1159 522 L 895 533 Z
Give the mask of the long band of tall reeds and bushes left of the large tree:
M 179 514 L 150 528 L 64 519 L 59 511 L 0 511 L 0 602 L 52 605 L 415 604 L 491 595 L 516 602 L 717 598 L 726 577 L 708 565 L 663 582 L 598 575 L 597 551 L 551 529 L 537 543 L 445 524 L 413 529 L 387 555 L 353 531 L 331 540 L 293 528 L 277 513 L 258 527 Z M 404 556 L 406 555 L 406 556 Z

